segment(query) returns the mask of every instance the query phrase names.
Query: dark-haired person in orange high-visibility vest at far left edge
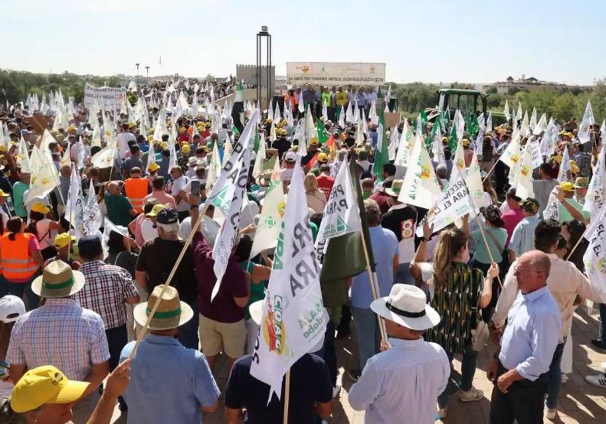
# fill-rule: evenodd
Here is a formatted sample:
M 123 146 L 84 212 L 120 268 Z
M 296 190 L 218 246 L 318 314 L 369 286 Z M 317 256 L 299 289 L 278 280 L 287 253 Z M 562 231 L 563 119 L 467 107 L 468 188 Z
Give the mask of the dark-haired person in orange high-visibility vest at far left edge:
M 44 259 L 34 234 L 25 233 L 25 222 L 18 216 L 8 220 L 7 231 L 0 237 L 0 262 L 2 263 L 2 291 L 4 294 L 27 296 L 27 310 L 38 307 L 38 295 L 32 291 L 32 281 Z

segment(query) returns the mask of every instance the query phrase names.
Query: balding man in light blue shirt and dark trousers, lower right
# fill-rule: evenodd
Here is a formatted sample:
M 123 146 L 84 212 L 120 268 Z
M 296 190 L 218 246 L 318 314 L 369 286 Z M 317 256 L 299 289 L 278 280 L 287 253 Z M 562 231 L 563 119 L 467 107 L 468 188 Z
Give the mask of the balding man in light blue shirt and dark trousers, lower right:
M 543 422 L 548 371 L 562 329 L 558 303 L 547 288 L 551 262 L 547 254 L 533 250 L 510 268 L 508 277 L 520 291 L 507 316 L 501 351 L 488 368 L 488 379 L 495 385 L 493 424 Z

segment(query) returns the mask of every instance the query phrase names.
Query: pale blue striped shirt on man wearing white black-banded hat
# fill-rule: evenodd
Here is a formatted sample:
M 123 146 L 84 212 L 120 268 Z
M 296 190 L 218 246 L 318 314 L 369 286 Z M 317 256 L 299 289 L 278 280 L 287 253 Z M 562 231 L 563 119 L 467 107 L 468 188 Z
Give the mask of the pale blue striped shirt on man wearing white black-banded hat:
M 389 339 L 391 348 L 368 359 L 362 376 L 351 386 L 351 408 L 366 411 L 364 422 L 433 424 L 436 398 L 448 383 L 450 362 L 436 343 Z

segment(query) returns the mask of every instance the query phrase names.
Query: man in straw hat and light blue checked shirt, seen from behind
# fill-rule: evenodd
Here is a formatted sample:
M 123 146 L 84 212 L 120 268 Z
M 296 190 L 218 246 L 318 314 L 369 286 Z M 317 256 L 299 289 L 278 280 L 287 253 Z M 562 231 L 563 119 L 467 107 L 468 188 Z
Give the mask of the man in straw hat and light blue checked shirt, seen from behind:
M 70 380 L 90 383 L 73 407 L 75 424 L 84 424 L 95 409 L 110 359 L 101 316 L 73 299 L 83 287 L 84 275 L 67 263 L 56 260 L 45 267 L 32 291 L 46 303 L 16 320 L 6 356 L 15 384 L 27 369 L 48 364 Z

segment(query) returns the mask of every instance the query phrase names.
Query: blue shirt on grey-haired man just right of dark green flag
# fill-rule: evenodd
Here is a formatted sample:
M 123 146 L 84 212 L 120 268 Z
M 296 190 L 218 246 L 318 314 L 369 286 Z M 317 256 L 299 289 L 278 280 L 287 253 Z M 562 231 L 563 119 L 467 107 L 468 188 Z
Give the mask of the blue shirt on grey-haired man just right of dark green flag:
M 388 296 L 393 285 L 393 257 L 398 254 L 398 239 L 393 231 L 381 226 L 368 228 L 370 243 L 376 264 L 379 297 Z M 370 308 L 373 295 L 370 291 L 368 273 L 364 271 L 353 277 L 350 288 L 351 305 L 356 308 Z

